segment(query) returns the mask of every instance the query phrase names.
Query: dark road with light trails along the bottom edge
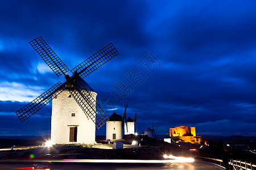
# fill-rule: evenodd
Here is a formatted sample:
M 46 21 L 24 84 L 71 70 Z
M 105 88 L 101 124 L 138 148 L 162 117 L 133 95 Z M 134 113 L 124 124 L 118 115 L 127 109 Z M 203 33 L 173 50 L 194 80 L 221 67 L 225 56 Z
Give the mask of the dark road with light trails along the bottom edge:
M 203 162 L 201 160 L 195 160 L 195 162 L 190 163 L 164 163 L 164 164 L 129 164 L 129 163 L 12 163 L 12 162 L 5 162 L 0 163 L 0 169 L 32 169 L 32 167 L 36 167 L 36 165 L 42 166 L 40 169 L 49 169 L 49 170 L 56 170 L 56 169 L 109 169 L 109 170 L 126 170 L 126 169 L 133 169 L 133 170 L 146 170 L 146 169 L 180 169 L 180 170 L 188 170 L 188 169 L 224 169 L 219 167 L 218 165 L 210 164 L 207 162 Z

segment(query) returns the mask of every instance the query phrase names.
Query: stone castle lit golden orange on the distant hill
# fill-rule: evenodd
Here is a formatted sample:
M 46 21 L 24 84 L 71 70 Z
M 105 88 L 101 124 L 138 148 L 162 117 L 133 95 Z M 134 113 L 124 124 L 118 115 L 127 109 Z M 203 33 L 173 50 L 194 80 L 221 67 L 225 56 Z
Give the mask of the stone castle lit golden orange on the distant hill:
M 201 137 L 196 136 L 196 128 L 188 126 L 179 126 L 170 128 L 170 137 L 173 139 L 179 139 L 177 142 L 201 142 Z

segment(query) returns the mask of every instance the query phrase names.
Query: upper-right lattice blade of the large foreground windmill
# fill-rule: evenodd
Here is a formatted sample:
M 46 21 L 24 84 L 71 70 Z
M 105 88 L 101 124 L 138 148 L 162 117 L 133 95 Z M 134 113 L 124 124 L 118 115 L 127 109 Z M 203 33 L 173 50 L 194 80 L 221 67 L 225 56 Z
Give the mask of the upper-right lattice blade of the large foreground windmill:
M 100 66 L 104 65 L 104 63 L 117 56 L 117 54 L 119 54 L 117 49 L 110 43 L 97 53 L 93 54 L 93 56 L 87 58 L 84 62 L 81 62 L 72 69 L 71 72 L 73 74 L 77 72 L 83 79 L 93 71 L 97 70 Z

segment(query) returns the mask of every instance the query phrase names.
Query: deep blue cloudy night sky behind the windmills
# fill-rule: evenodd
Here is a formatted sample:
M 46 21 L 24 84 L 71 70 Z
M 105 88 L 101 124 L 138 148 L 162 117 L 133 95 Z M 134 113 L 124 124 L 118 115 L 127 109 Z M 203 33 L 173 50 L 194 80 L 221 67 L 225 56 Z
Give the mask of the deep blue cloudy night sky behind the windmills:
M 112 42 L 118 56 L 85 81 L 109 116 L 123 114 L 126 100 L 139 133 L 154 121 L 156 134 L 187 125 L 197 135 L 256 135 L 255 8 L 255 1 L 0 0 L 0 135 L 50 134 L 51 104 L 23 123 L 15 114 L 65 81 L 28 43 L 39 36 L 69 69 Z

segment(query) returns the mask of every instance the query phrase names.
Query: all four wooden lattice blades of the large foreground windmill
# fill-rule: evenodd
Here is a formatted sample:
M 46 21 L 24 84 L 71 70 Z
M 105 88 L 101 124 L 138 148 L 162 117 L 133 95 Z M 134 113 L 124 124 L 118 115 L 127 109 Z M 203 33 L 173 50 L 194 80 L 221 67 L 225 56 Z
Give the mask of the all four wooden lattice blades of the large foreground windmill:
M 57 76 L 60 76 L 61 74 L 65 75 L 65 73 L 69 71 L 68 67 L 63 63 L 63 61 L 61 61 L 55 52 L 53 52 L 42 37 L 38 37 L 30 41 L 30 45 L 36 50 L 39 56 L 43 58 L 44 62 L 47 63 L 47 65 Z M 76 100 L 77 104 L 80 105 L 85 114 L 88 114 L 99 129 L 105 124 L 108 116 L 101 109 L 100 105 L 97 104 L 96 100 L 93 99 L 90 92 L 87 91 L 79 81 L 75 83 L 75 80 L 76 78 L 79 79 L 79 76 L 81 78 L 85 78 L 85 76 L 89 75 L 93 71 L 97 70 L 100 66 L 104 65 L 104 63 L 117 56 L 117 54 L 119 53 L 112 43 L 106 45 L 100 51 L 93 54 L 93 56 L 89 57 L 84 62 L 80 63 L 80 65 L 72 69 L 72 78 L 70 78 L 69 75 L 65 75 L 67 82 L 64 84 L 58 82 L 42 95 L 36 97 L 36 99 L 31 101 L 31 103 L 27 104 L 22 109 L 19 109 L 19 111 L 16 112 L 19 120 L 21 122 L 27 120 L 27 118 L 31 117 L 34 113 L 38 112 L 46 104 L 48 104 L 52 100 L 52 96 L 55 97 L 59 95 L 65 87 L 65 84 L 72 84 L 74 88 L 72 90 L 70 89 L 69 91 Z

